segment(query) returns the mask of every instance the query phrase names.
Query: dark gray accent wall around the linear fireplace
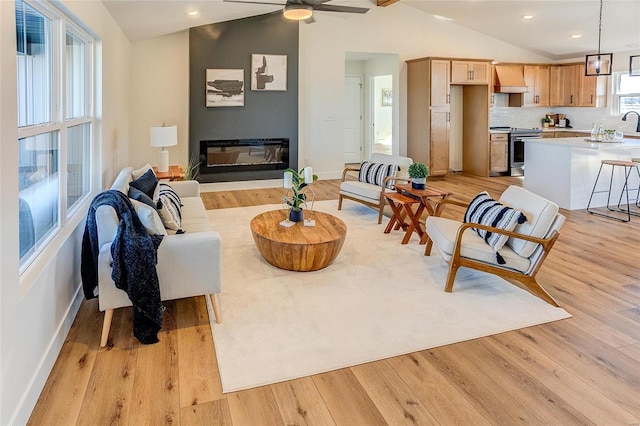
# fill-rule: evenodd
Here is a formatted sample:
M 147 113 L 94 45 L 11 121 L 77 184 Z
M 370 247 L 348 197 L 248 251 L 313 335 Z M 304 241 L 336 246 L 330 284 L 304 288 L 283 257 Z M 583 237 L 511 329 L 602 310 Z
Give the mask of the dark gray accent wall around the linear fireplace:
M 189 31 L 189 156 L 201 140 L 288 138 L 290 165 L 298 159 L 298 22 L 282 13 L 203 25 Z M 287 55 L 287 90 L 252 91 L 251 55 Z M 244 106 L 205 106 L 207 69 L 244 70 Z M 203 182 L 281 178 L 282 170 L 201 173 Z

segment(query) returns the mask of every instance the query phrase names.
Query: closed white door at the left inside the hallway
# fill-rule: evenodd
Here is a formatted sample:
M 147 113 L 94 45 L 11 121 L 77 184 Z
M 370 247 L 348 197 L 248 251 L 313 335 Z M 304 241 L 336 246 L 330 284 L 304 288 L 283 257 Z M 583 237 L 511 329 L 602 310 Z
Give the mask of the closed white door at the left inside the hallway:
M 362 76 L 348 75 L 344 80 L 344 162 L 362 162 Z

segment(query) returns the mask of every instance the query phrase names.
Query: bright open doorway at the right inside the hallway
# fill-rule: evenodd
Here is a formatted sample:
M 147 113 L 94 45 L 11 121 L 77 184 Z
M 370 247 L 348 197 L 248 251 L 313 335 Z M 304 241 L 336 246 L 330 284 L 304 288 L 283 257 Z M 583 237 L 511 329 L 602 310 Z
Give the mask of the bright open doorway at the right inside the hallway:
M 393 76 L 374 76 L 372 87 L 372 152 L 391 155 L 393 152 Z

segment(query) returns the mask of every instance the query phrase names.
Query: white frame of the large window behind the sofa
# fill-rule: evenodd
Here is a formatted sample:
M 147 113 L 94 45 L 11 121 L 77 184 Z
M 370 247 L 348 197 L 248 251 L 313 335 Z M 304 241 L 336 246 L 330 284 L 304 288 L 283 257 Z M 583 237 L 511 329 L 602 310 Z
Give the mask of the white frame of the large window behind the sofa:
M 51 115 L 51 121 L 47 123 L 38 123 L 34 125 L 28 125 L 18 127 L 18 140 L 27 138 L 43 133 L 58 132 L 59 134 L 59 152 L 58 152 L 58 224 L 49 232 L 48 236 L 41 241 L 36 241 L 34 249 L 31 254 L 25 255 L 20 259 L 19 273 L 21 278 L 25 275 L 25 272 L 29 270 L 29 267 L 33 265 L 36 260 L 42 255 L 43 252 L 48 251 L 47 248 L 52 245 L 52 242 L 57 239 L 64 239 L 69 232 L 62 232 L 65 227 L 73 226 L 70 222 L 77 222 L 77 217 L 83 215 L 81 206 L 94 192 L 95 188 L 95 168 L 98 166 L 98 159 L 94 158 L 95 154 L 99 152 L 96 149 L 96 131 L 95 131 L 95 46 L 96 40 L 86 31 L 84 31 L 79 25 L 72 21 L 72 18 L 65 15 L 65 13 L 49 1 L 40 0 L 23 0 L 25 4 L 36 10 L 38 13 L 46 16 L 52 20 L 52 103 L 53 111 Z M 86 51 L 86 81 L 85 81 L 85 117 L 66 119 L 66 33 L 70 32 L 75 37 L 79 38 L 87 44 Z M 67 211 L 67 128 L 77 126 L 80 124 L 89 123 L 91 125 L 91 142 L 89 144 L 89 158 L 91 162 L 88 165 L 89 169 L 89 191 Z M 17 123 L 16 123 L 17 126 Z M 16 140 L 15 143 L 18 143 Z M 16 200 L 17 201 L 17 200 Z

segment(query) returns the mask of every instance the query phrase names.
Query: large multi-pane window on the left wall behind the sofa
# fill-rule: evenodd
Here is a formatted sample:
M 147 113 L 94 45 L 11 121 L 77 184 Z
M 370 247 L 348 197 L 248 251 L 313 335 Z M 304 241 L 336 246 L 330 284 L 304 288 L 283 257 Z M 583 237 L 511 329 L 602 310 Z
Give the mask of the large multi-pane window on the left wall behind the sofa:
M 93 39 L 48 2 L 15 7 L 22 272 L 91 193 Z

